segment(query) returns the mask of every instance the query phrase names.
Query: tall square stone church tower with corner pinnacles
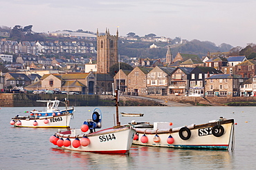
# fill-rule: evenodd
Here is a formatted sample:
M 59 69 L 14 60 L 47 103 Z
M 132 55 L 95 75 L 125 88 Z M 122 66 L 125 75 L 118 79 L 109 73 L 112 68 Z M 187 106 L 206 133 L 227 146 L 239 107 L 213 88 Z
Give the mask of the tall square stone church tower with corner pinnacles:
M 116 63 L 118 63 L 118 30 L 116 35 L 110 35 L 109 30 L 106 29 L 106 33 L 101 36 L 97 30 L 97 73 L 109 73 L 109 68 Z

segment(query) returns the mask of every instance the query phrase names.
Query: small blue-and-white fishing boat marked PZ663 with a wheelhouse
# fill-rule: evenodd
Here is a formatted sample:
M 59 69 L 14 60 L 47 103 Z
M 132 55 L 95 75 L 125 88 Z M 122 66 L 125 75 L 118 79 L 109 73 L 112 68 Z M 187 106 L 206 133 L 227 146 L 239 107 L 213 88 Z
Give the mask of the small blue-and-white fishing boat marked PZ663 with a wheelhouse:
M 15 116 L 10 121 L 10 125 L 15 127 L 35 127 L 35 128 L 68 128 L 71 116 L 75 111 L 74 107 L 68 108 L 68 101 L 65 98 L 66 109 L 58 109 L 60 100 L 37 100 L 46 103 L 46 110 L 39 111 L 33 109 L 26 111 L 26 116 Z

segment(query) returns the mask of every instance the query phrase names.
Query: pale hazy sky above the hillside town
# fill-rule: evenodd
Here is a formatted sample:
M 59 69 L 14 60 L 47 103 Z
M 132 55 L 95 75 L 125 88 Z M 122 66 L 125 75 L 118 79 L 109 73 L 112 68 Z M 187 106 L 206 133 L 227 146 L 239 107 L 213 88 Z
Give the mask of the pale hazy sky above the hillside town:
M 120 36 L 156 34 L 171 39 L 246 47 L 256 43 L 255 0 L 0 0 L 0 25 L 33 25 L 34 32 L 109 29 Z

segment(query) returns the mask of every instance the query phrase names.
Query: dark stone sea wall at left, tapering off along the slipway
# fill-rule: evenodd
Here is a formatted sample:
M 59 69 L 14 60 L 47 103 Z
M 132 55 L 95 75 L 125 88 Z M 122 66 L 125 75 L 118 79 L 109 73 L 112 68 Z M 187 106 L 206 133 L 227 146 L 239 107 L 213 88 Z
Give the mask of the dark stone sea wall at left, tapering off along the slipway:
M 0 93 L 0 107 L 35 107 L 45 106 L 46 103 L 39 103 L 37 100 L 58 100 L 64 101 L 67 96 L 64 94 L 8 94 Z M 69 106 L 113 106 L 114 97 L 111 95 L 68 95 Z M 159 106 L 160 103 L 136 98 L 120 96 L 122 106 Z M 60 106 L 64 106 L 60 103 Z

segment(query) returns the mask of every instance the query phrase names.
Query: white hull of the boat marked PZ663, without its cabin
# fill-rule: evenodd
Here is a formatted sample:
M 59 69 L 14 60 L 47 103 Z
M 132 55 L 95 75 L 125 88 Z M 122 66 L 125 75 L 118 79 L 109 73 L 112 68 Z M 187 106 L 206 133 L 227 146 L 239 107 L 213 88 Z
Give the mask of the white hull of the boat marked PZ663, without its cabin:
M 33 127 L 33 128 L 68 128 L 73 114 L 62 114 L 60 116 L 37 116 L 12 118 L 15 121 L 15 127 Z M 45 123 L 45 120 L 48 123 Z M 35 125 L 35 121 L 37 122 Z M 19 125 L 21 124 L 21 125 Z

